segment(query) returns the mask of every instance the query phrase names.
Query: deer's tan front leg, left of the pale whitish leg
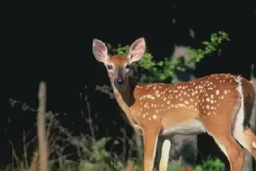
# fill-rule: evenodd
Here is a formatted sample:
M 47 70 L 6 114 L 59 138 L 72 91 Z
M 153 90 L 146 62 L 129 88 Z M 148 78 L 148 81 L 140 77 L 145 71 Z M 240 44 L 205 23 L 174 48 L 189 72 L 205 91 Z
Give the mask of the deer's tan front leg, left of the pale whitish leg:
M 148 128 L 146 130 L 143 130 L 143 142 L 144 142 L 143 170 L 144 171 L 153 170 L 159 132 L 160 132 L 159 128 Z

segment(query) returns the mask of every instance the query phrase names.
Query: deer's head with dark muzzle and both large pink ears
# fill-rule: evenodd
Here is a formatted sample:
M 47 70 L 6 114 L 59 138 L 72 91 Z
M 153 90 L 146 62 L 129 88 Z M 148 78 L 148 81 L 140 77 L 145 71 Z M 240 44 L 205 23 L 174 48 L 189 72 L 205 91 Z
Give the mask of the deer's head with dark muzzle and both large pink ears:
M 144 38 L 134 41 L 129 47 L 129 52 L 126 56 L 108 55 L 108 49 L 105 43 L 99 39 L 94 39 L 92 44 L 94 57 L 96 57 L 99 62 L 104 63 L 113 88 L 119 91 L 127 89 L 130 65 L 140 60 L 145 51 L 146 43 Z

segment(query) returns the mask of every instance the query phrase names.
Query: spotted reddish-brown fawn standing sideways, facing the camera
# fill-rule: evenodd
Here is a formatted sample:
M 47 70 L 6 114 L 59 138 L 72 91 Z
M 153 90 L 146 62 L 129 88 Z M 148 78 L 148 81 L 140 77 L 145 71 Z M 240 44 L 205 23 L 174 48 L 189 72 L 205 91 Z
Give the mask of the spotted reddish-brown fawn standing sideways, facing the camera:
M 244 164 L 244 148 L 256 159 L 256 136 L 249 120 L 255 107 L 255 87 L 241 75 L 213 73 L 175 84 L 139 83 L 129 70 L 146 52 L 143 37 L 127 55 L 109 55 L 105 43 L 93 39 L 92 52 L 108 71 L 118 106 L 129 124 L 143 135 L 143 170 L 154 168 L 159 136 L 207 133 L 227 156 L 231 171 Z M 167 170 L 170 140 L 164 140 L 159 170 Z

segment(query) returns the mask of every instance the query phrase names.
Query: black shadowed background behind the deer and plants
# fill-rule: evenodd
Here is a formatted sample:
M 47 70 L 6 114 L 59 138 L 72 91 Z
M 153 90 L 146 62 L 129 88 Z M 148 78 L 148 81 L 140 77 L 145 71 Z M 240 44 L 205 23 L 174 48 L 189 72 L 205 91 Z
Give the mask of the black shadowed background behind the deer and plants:
M 48 85 L 48 111 L 61 114 L 61 122 L 72 132 L 89 132 L 80 114 L 85 105 L 80 102 L 79 93 L 86 92 L 92 114 L 97 114 L 94 122 L 99 126 L 98 138 L 121 135 L 119 127 L 127 127 L 132 134 L 123 116 L 119 116 L 116 101 L 94 91 L 95 85 L 110 83 L 105 67 L 92 55 L 92 39 L 116 47 L 144 36 L 148 51 L 161 60 L 172 54 L 173 44 L 198 48 L 211 33 L 223 30 L 231 41 L 222 44 L 220 56 L 216 53 L 197 64 L 196 76 L 235 73 L 249 79 L 250 66 L 256 59 L 255 9 L 253 1 L 168 1 L 161 6 L 132 1 L 1 4 L 1 164 L 10 162 L 9 141 L 21 151 L 23 131 L 29 131 L 36 121 L 34 112 L 12 107 L 9 101 L 15 99 L 37 108 L 38 84 L 42 80 Z M 189 28 L 195 31 L 195 39 L 189 36 Z M 204 159 L 210 154 L 225 159 L 208 135 L 199 136 L 199 150 Z

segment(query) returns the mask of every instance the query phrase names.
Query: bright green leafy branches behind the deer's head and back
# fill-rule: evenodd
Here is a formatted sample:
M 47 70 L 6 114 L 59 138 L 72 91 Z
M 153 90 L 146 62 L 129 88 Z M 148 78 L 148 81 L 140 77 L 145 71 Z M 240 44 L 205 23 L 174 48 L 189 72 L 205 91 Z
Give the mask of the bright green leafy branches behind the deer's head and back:
M 203 49 L 194 49 L 189 47 L 188 55 L 189 63 L 198 63 L 206 55 L 211 55 L 213 52 L 217 51 L 217 47 L 222 41 L 230 40 L 225 31 L 219 31 L 217 33 L 212 33 L 209 41 L 203 41 Z M 117 55 L 126 55 L 129 50 L 129 46 L 122 47 L 121 44 L 118 45 L 117 49 L 113 49 Z M 180 62 L 176 59 L 171 59 L 170 57 L 165 57 L 164 60 L 156 61 L 153 59 L 151 53 L 146 52 L 143 58 L 138 62 L 140 68 L 143 72 L 140 73 L 140 81 L 143 82 L 163 82 L 167 79 L 171 79 L 175 71 L 185 71 L 185 68 L 178 66 Z

